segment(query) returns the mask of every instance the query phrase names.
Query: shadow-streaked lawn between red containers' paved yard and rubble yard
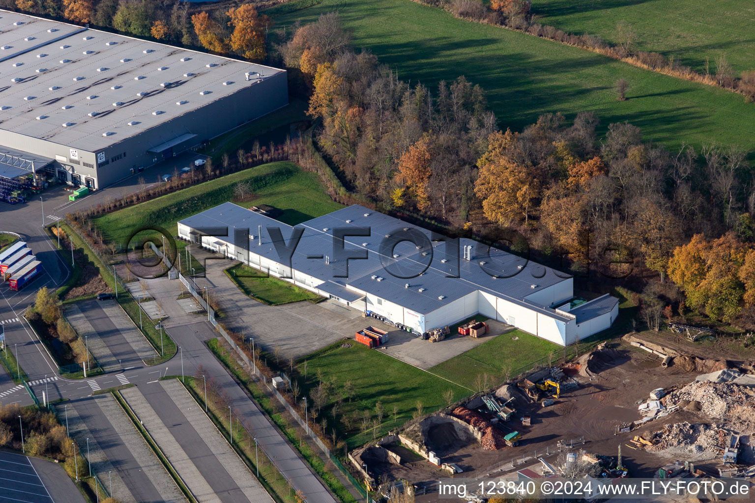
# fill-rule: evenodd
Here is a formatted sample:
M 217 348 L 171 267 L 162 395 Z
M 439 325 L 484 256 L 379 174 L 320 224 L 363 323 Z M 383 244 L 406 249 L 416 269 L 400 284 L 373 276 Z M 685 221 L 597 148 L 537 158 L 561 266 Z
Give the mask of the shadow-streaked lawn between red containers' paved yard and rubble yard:
M 351 347 L 341 347 L 344 342 Z M 317 421 L 325 418 L 328 421 L 326 431 L 336 428 L 338 437 L 344 438 L 350 449 L 372 440 L 373 435 L 381 437 L 390 429 L 403 425 L 412 418 L 418 402 L 424 413 L 430 413 L 446 405 L 442 397 L 446 390 L 453 391 L 454 401 L 471 394 L 467 389 L 353 340 L 344 339 L 300 359 L 297 368 L 303 376 L 305 360 L 307 379 L 301 383 L 302 394 L 310 394 L 319 385 L 318 370 L 321 371 L 322 381 L 328 383 L 331 393 L 328 405 L 323 407 Z M 347 382 L 353 385 L 354 395 L 350 400 L 344 398 L 343 405 L 337 409 L 336 416 L 339 420 L 335 421 L 331 407 L 337 402 L 337 395 L 343 394 Z M 378 401 L 385 410 L 381 424 L 377 428 L 368 425 L 366 431 L 362 431 L 361 418 L 365 412 L 371 414 L 371 419 L 377 419 L 375 405 Z M 395 419 L 393 406 L 397 407 Z M 340 420 L 344 416 L 359 416 L 359 419 L 355 417 L 351 427 L 346 428 Z

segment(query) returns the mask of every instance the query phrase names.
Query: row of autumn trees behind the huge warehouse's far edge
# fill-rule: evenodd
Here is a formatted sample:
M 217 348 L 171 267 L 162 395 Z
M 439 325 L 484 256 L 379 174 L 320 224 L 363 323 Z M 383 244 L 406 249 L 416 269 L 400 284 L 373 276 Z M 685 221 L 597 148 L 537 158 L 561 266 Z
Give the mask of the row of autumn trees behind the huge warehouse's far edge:
M 168 0 L 0 0 L 0 8 L 258 61 L 267 57 L 272 24 L 253 4 L 242 2 L 202 11 Z

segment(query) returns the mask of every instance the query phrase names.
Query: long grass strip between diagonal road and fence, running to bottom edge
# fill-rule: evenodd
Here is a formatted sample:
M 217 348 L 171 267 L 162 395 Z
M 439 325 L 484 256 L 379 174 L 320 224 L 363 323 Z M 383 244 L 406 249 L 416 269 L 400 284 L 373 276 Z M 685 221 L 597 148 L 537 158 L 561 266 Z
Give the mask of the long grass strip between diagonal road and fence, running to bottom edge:
M 251 397 L 254 398 L 255 403 L 260 406 L 260 409 L 263 409 L 267 416 L 273 421 L 273 423 L 275 423 L 279 431 L 282 431 L 282 433 L 285 434 L 285 437 L 291 445 L 293 445 L 302 457 L 304 457 L 304 460 L 313 468 L 320 479 L 325 481 L 325 484 L 332 492 L 334 492 L 337 498 L 343 503 L 356 503 L 353 495 L 351 495 L 349 490 L 341 483 L 341 480 L 338 480 L 338 477 L 329 470 L 325 465 L 325 462 L 323 462 L 317 452 L 314 451 L 313 447 L 306 441 L 302 442 L 304 431 L 300 428 L 297 429 L 293 422 L 289 424 L 285 421 L 276 400 L 273 397 L 268 396 L 263 391 L 261 385 L 254 382 L 245 370 L 236 365 L 234 357 L 228 353 L 226 348 L 223 348 L 223 346 L 218 343 L 218 339 L 208 340 L 207 345 L 217 359 L 223 363 L 228 372 L 230 372 L 231 375 L 244 386 Z

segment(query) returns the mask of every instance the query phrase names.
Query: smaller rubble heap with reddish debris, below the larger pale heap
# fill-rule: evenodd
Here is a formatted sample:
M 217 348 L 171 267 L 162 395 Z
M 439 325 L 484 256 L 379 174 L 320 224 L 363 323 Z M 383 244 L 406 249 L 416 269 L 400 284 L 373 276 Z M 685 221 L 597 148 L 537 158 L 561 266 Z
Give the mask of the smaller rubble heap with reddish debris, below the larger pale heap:
M 689 422 L 665 425 L 661 431 L 654 431 L 653 437 L 660 440 L 647 447 L 650 452 L 685 455 L 689 459 L 715 458 L 728 438 L 726 431 L 716 425 L 692 425 Z

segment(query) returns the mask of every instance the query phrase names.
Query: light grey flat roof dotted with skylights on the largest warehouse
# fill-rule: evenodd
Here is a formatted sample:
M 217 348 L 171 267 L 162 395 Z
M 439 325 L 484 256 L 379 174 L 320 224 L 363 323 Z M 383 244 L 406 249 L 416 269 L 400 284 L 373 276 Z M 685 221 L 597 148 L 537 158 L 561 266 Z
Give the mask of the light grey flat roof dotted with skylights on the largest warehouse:
M 0 128 L 90 152 L 282 72 L 10 11 L 0 31 Z

